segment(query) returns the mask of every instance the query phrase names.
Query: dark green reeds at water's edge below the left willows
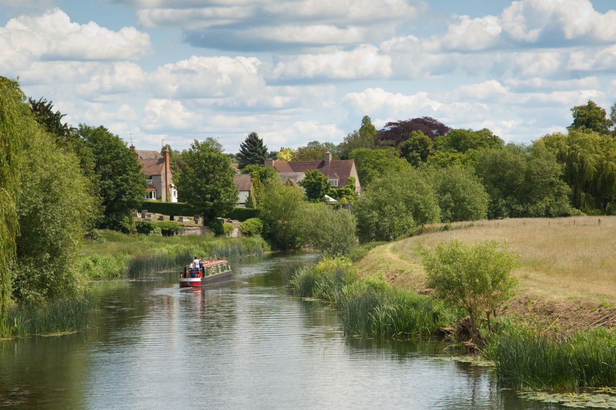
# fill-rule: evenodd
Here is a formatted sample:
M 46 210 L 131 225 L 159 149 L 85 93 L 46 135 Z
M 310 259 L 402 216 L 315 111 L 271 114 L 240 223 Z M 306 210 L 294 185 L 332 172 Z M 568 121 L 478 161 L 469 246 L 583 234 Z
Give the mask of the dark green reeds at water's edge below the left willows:
M 92 302 L 85 297 L 14 305 L 6 322 L 0 323 L 0 337 L 78 331 L 91 323 L 93 311 Z

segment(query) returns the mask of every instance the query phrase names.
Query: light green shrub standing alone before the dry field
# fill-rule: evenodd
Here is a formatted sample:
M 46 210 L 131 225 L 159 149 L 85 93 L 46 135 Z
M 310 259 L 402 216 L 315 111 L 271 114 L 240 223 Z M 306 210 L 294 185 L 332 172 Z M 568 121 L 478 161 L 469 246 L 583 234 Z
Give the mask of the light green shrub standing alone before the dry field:
M 437 298 L 468 312 L 477 342 L 481 339 L 477 315 L 485 313 L 491 332 L 490 315 L 496 315 L 513 294 L 517 282 L 509 272 L 516 258 L 494 241 L 465 245 L 452 240 L 425 254 L 428 286 L 434 288 Z

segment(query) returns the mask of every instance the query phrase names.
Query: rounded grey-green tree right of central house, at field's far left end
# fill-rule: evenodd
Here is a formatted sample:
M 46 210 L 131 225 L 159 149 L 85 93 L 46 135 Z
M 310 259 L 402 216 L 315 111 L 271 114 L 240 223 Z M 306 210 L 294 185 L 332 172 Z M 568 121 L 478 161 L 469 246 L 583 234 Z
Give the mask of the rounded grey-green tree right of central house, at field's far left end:
M 415 168 L 390 171 L 376 178 L 355 201 L 357 236 L 361 242 L 394 240 L 421 224 L 440 220 L 434 189 Z

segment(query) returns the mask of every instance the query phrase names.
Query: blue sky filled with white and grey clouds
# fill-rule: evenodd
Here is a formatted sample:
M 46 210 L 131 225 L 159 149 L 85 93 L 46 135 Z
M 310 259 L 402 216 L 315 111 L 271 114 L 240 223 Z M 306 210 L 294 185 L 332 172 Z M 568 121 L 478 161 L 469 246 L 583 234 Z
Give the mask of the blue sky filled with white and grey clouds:
M 0 0 L 0 75 L 137 149 L 339 143 L 368 115 L 529 143 L 616 101 L 614 0 Z

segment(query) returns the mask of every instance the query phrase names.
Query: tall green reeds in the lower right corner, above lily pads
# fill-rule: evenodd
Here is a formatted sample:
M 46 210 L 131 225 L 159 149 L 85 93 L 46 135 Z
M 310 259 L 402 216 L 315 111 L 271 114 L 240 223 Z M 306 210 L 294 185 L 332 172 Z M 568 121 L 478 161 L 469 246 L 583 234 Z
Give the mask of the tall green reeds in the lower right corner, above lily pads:
M 503 320 L 483 355 L 505 387 L 616 386 L 616 333 L 605 328 L 554 337 Z

